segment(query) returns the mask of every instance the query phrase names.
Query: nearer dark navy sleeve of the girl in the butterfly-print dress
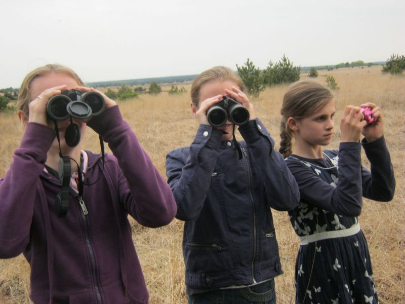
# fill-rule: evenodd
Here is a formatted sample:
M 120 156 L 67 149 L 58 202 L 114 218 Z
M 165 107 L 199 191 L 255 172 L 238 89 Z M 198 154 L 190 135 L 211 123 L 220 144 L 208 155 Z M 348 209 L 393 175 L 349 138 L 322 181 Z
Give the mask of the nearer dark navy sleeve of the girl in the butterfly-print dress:
M 289 158 L 287 164 L 297 180 L 301 199 L 340 215 L 358 216 L 362 207 L 360 151 L 358 142 L 340 143 L 339 178 L 336 176 L 333 184 L 319 178 L 301 161 Z

